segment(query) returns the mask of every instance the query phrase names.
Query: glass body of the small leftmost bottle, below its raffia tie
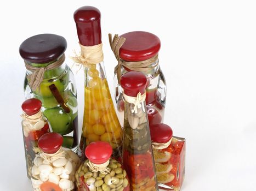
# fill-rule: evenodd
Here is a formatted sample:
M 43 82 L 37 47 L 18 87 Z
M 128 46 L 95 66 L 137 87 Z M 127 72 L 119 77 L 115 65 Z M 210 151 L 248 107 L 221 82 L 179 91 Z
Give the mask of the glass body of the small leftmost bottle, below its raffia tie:
M 43 128 L 39 130 L 33 130 L 30 132 L 25 132 L 24 127 L 21 123 L 28 178 L 31 178 L 33 160 L 35 159 L 36 154 L 40 151 L 37 145 L 38 139 L 41 138 L 41 136 L 44 135 L 45 133 L 50 132 L 49 124 L 45 117 L 43 117 L 43 121 Z

